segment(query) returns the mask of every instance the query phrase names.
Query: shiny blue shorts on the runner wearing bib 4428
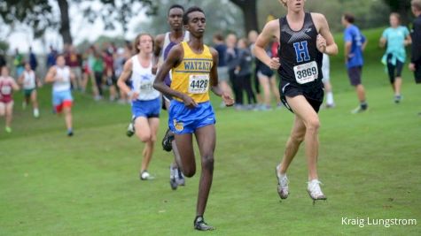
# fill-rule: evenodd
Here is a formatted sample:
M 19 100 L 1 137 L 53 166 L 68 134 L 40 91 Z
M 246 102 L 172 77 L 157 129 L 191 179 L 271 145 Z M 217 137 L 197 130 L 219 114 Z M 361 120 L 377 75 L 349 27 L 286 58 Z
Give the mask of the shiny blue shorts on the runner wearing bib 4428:
M 198 107 L 190 109 L 176 100 L 169 106 L 168 126 L 175 134 L 194 133 L 196 129 L 214 125 L 214 109 L 208 101 L 199 103 Z

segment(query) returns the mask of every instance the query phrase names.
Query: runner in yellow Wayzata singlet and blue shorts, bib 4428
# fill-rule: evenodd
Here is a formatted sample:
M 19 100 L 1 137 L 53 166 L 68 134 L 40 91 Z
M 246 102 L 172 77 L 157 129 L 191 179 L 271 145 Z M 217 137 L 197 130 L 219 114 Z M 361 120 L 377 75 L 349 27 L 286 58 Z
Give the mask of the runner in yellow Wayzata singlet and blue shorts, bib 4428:
M 184 176 L 192 177 L 196 172 L 192 133 L 198 141 L 202 172 L 194 228 L 199 231 L 214 230 L 205 223 L 203 215 L 207 197 L 212 185 L 214 172 L 214 148 L 216 142 L 214 110 L 209 102 L 209 88 L 215 95 L 222 96 L 223 102 L 231 106 L 234 101 L 218 87 L 218 53 L 203 44 L 206 17 L 199 7 L 191 7 L 183 14 L 184 28 L 191 33 L 189 42 L 181 42 L 173 47 L 167 60 L 160 67 L 153 87 L 174 100 L 169 107 L 168 125 L 175 133 L 176 147 L 180 151 Z M 164 83 L 165 75 L 172 70 L 172 82 Z

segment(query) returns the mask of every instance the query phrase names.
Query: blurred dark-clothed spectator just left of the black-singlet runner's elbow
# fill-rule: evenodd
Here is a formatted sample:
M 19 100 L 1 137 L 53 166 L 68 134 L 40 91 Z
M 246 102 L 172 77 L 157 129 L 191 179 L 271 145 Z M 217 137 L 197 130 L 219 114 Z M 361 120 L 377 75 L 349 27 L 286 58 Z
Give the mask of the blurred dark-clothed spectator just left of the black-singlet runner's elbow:
M 246 110 L 253 109 L 256 103 L 256 97 L 252 88 L 252 53 L 248 49 L 247 41 L 245 38 L 238 40 L 238 60 L 235 70 L 236 77 L 241 84 L 242 88 L 246 91 L 247 102 Z M 241 93 L 242 94 L 242 93 Z

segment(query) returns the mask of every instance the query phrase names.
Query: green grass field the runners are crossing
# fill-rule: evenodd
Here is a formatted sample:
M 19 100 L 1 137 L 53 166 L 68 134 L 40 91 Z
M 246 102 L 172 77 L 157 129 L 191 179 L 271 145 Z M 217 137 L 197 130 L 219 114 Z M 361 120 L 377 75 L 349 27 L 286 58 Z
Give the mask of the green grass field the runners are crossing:
M 405 67 L 404 99 L 393 103 L 379 64 L 379 30 L 367 32 L 363 72 L 370 110 L 357 105 L 341 65 L 332 58 L 337 108 L 321 110 L 319 174 L 327 202 L 308 197 L 301 149 L 289 170 L 291 194 L 277 195 L 274 169 L 292 125 L 287 110 L 219 109 L 208 235 L 420 235 L 421 87 Z M 341 48 L 342 42 L 338 40 Z M 195 235 L 198 176 L 172 191 L 171 156 L 157 144 L 152 181 L 138 180 L 143 144 L 125 136 L 129 106 L 93 102 L 74 93 L 73 138 L 51 114 L 50 88 L 40 91 L 42 118 L 21 110 L 16 94 L 12 134 L 0 124 L 0 235 Z M 166 130 L 162 113 L 159 140 Z M 197 152 L 198 153 L 198 152 Z M 199 166 L 198 166 L 199 167 Z M 198 169 L 199 170 L 199 169 Z M 418 225 L 342 225 L 348 219 L 417 219 Z

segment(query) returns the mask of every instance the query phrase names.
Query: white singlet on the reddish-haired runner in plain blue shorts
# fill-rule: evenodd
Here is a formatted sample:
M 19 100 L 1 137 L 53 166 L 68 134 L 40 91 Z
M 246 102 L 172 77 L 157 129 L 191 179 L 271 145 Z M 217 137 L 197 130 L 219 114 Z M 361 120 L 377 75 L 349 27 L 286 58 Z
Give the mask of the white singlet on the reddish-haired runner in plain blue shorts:
M 160 96 L 160 92 L 153 88 L 155 75 L 152 74 L 152 60 L 148 67 L 144 68 L 137 58 L 137 55 L 131 57 L 132 61 L 132 90 L 138 93 L 137 100 L 148 101 Z

